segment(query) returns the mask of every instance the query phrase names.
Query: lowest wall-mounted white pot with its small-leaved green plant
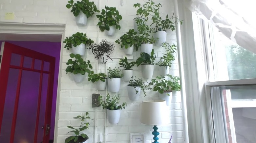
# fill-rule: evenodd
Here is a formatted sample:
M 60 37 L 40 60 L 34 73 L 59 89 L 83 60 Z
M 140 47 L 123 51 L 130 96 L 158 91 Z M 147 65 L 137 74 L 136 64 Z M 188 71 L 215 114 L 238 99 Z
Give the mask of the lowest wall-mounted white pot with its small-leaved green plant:
M 107 93 L 105 101 L 103 101 L 102 96 L 99 96 L 98 100 L 100 105 L 102 105 L 102 108 L 107 109 L 108 122 L 111 124 L 117 124 L 120 119 L 121 109 L 124 109 L 127 106 L 125 102 L 119 104 L 120 93 L 114 95 L 112 98 L 109 93 Z

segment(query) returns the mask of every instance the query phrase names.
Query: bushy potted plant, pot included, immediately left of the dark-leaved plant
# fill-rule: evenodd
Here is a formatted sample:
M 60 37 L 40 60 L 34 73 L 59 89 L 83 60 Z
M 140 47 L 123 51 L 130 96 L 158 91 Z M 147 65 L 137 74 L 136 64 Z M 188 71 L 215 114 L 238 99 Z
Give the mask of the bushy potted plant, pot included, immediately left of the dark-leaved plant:
M 72 49 L 72 53 L 84 56 L 86 45 L 91 46 L 94 41 L 90 38 L 88 39 L 86 33 L 76 32 L 71 37 L 66 37 L 63 43 L 65 43 L 64 48 Z

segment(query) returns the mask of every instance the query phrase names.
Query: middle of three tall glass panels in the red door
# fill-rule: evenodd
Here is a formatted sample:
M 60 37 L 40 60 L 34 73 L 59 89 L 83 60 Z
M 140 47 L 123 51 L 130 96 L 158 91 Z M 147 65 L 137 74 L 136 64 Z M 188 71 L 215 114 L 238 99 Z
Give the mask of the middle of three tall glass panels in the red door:
M 40 73 L 22 72 L 14 143 L 32 143 L 35 132 Z

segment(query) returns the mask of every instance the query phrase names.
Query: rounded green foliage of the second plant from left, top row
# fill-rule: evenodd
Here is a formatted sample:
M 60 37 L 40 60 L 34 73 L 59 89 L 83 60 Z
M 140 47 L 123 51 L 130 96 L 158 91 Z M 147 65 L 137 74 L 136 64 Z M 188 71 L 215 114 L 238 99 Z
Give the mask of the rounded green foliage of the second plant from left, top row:
M 122 16 L 119 15 L 117 8 L 107 7 L 101 10 L 100 15 L 96 15 L 99 19 L 97 26 L 99 26 L 100 31 L 109 30 L 109 26 L 116 26 L 116 29 L 121 29 L 119 21 L 122 20 Z

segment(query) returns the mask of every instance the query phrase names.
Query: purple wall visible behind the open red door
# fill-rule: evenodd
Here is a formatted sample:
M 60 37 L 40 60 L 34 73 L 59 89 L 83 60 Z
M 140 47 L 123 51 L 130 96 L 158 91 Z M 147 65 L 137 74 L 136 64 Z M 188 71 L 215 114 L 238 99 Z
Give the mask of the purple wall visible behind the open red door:
M 51 128 L 52 129 L 51 129 L 51 135 L 50 135 L 50 139 L 53 139 L 61 42 L 34 42 L 34 41 L 7 41 L 7 42 L 10 42 L 12 44 L 55 57 L 53 104 L 52 104 L 52 116 L 51 116 L 51 118 L 52 118 L 51 119 Z M 0 44 L 1 43 L 2 43 L 2 41 L 0 41 Z M 0 50 L 1 50 L 1 46 L 0 46 Z M 37 100 L 37 99 L 30 98 L 30 100 Z M 29 103 L 29 102 L 27 102 L 27 103 Z M 34 106 L 34 105 L 32 105 L 32 104 L 31 104 L 31 106 L 28 105 L 28 107 L 30 107 L 30 108 L 32 106 Z

